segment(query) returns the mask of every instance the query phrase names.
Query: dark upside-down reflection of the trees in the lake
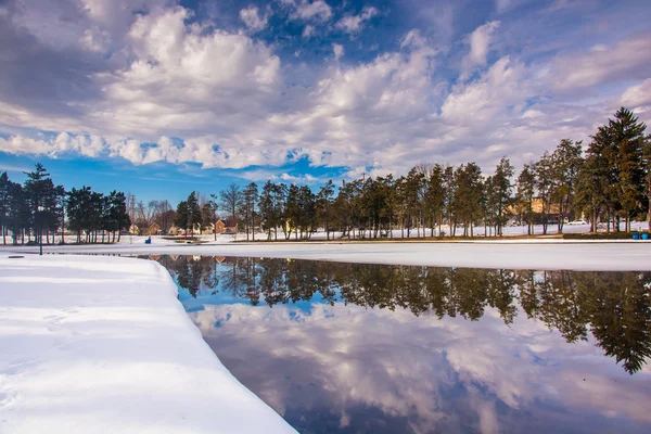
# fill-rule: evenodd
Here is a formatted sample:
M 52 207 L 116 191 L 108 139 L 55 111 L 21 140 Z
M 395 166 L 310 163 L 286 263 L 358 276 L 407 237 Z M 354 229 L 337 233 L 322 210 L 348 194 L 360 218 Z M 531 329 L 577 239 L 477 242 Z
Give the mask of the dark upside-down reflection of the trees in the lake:
M 222 261 L 218 266 L 218 261 Z M 544 321 L 567 342 L 588 329 L 627 372 L 651 357 L 651 272 L 515 271 L 340 264 L 273 258 L 158 259 L 192 296 L 201 288 L 232 293 L 253 305 L 309 301 L 409 309 L 413 315 L 478 320 L 495 308 L 506 324 L 518 315 Z M 203 285 L 203 286 L 202 286 Z M 336 296 L 335 290 L 340 290 Z

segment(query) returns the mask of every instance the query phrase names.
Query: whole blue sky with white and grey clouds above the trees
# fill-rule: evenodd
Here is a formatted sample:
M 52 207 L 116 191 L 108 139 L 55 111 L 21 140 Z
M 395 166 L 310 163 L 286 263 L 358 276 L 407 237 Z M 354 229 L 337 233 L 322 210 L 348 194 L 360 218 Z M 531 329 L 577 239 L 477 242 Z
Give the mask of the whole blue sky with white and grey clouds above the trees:
M 651 2 L 0 0 L 0 171 L 178 202 L 651 120 Z

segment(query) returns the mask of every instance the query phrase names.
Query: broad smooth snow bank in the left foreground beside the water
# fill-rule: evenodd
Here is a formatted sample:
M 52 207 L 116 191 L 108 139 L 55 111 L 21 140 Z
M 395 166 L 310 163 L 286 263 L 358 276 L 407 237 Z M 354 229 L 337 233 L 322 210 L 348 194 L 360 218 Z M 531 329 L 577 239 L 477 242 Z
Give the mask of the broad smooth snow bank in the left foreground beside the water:
M 1 433 L 294 433 L 154 261 L 0 257 Z

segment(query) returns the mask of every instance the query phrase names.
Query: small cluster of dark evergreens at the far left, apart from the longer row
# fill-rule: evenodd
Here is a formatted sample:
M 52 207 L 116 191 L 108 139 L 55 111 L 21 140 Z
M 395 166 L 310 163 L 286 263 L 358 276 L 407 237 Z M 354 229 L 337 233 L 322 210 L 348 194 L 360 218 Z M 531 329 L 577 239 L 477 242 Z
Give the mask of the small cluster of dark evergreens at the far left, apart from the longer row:
M 76 233 L 77 242 L 119 241 L 120 231 L 130 226 L 126 197 L 122 192 L 108 195 L 90 187 L 66 191 L 55 186 L 41 164 L 26 173 L 23 184 L 0 175 L 0 230 L 2 243 L 11 234 L 13 244 L 65 243 L 66 228 Z M 84 237 L 82 237 L 84 234 Z

